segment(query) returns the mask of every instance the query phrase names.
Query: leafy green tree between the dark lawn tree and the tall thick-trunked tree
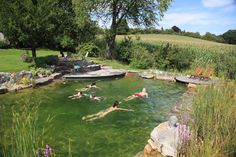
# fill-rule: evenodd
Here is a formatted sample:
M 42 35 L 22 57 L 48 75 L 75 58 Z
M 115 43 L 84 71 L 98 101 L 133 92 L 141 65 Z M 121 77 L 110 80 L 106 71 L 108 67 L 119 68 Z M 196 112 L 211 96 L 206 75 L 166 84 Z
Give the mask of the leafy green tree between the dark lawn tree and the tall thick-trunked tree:
M 78 15 L 72 0 L 58 0 L 57 29 L 48 47 L 60 52 L 75 51 L 78 44 L 93 40 L 96 34 L 96 23 L 87 14 Z M 60 9 L 60 8 L 63 8 Z

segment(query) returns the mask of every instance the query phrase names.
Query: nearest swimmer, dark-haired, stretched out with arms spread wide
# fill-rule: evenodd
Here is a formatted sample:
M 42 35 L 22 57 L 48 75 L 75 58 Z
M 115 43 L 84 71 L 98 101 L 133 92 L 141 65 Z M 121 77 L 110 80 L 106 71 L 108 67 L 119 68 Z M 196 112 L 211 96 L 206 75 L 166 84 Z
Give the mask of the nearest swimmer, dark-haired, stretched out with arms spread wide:
M 107 108 L 103 111 L 100 111 L 96 114 L 91 114 L 91 115 L 88 115 L 88 116 L 84 116 L 84 117 L 82 117 L 82 120 L 93 121 L 95 119 L 105 117 L 108 113 L 110 113 L 112 111 L 116 111 L 116 110 L 134 111 L 134 110 L 131 110 L 131 109 L 119 108 L 118 107 L 119 104 L 120 103 L 118 101 L 115 101 L 111 107 L 109 107 L 109 108 Z

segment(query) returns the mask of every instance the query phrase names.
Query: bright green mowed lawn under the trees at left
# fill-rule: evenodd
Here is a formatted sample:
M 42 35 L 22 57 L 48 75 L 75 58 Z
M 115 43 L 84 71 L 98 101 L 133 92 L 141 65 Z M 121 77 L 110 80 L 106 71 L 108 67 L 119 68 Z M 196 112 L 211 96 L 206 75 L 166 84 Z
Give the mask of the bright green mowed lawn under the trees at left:
M 0 49 L 0 72 L 17 72 L 21 70 L 29 70 L 32 63 L 24 63 L 21 61 L 21 55 L 26 50 L 20 49 Z M 31 51 L 28 51 L 31 55 Z M 58 55 L 58 51 L 37 50 L 37 57 L 48 55 Z

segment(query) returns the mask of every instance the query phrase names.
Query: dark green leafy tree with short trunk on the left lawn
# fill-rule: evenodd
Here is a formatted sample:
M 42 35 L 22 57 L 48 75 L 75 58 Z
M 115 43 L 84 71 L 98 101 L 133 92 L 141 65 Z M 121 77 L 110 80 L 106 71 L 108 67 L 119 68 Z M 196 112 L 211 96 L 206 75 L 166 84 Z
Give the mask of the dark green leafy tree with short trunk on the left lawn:
M 55 0 L 1 1 L 1 31 L 12 46 L 30 48 L 35 62 L 36 49 L 56 28 L 55 9 Z

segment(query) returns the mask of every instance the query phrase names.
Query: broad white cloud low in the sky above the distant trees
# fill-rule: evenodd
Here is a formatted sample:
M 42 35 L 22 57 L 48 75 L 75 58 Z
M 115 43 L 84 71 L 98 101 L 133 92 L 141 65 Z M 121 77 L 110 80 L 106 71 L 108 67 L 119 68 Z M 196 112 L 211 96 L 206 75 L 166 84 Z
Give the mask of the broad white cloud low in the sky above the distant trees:
M 235 18 L 224 17 L 219 20 L 219 16 L 221 14 L 208 12 L 172 12 L 165 14 L 163 20 L 159 23 L 159 27 L 166 29 L 176 25 L 182 30 L 190 32 L 221 34 L 223 32 L 222 28 L 234 25 Z

